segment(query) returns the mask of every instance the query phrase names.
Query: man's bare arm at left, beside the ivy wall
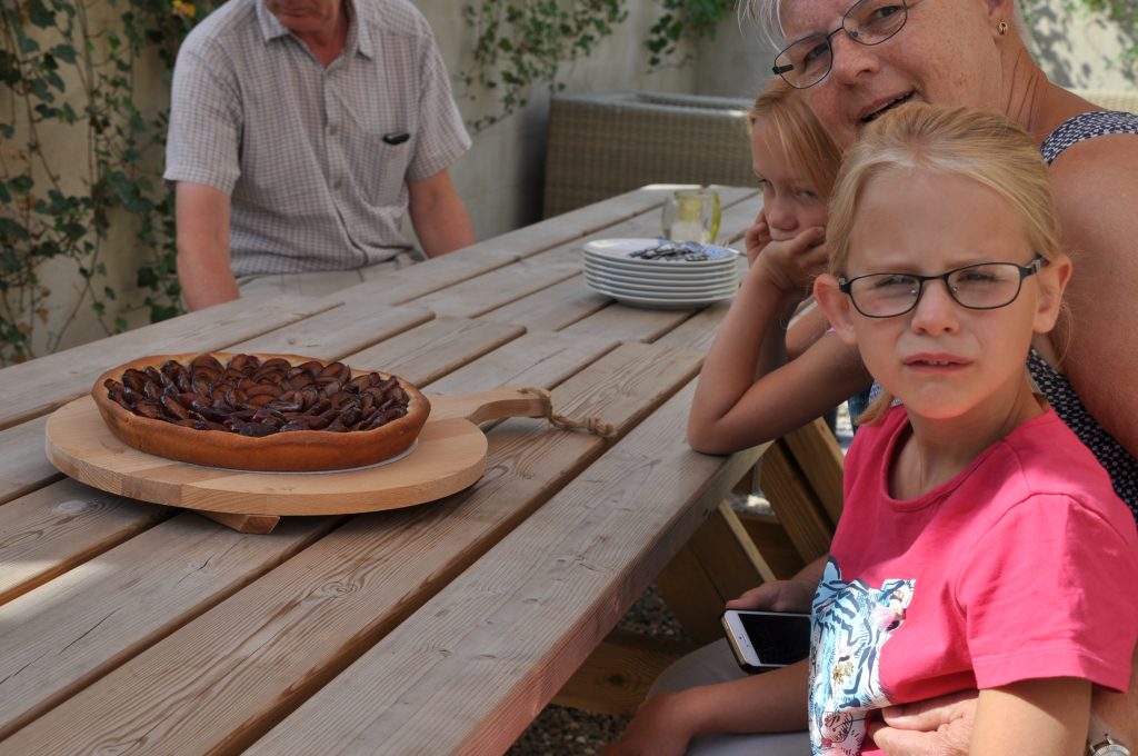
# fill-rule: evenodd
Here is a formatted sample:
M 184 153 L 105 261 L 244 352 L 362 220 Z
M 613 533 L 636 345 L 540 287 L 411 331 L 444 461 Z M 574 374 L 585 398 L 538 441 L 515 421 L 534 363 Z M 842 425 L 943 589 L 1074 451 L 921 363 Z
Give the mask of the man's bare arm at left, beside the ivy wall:
M 178 278 L 190 310 L 239 296 L 229 264 L 229 212 L 225 192 L 204 183 L 178 182 Z

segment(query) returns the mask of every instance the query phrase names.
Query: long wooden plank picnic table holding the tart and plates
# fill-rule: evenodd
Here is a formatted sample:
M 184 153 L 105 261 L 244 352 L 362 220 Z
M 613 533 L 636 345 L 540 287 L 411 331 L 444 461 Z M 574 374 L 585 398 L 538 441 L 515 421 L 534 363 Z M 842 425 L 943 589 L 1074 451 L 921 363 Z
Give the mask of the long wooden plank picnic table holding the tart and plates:
M 741 244 L 759 198 L 720 194 L 720 237 Z M 0 754 L 506 750 L 761 453 L 685 443 L 725 304 L 637 310 L 582 279 L 582 243 L 655 236 L 663 197 L 636 190 L 332 296 L 239 299 L 0 371 Z M 269 535 L 47 461 L 48 416 L 102 371 L 222 348 L 344 360 L 436 394 L 539 386 L 618 436 L 487 425 L 472 487 Z

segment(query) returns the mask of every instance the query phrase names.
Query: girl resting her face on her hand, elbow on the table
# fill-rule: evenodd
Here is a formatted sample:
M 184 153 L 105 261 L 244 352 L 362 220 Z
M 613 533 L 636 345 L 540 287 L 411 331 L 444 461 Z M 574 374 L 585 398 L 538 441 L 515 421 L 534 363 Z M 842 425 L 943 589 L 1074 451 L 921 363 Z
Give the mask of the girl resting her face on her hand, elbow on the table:
M 762 211 L 747 232 L 750 270 L 708 352 L 687 425 L 692 447 L 710 454 L 777 438 L 817 417 L 811 408 L 836 406 L 869 385 L 856 355 L 825 335 L 819 310 L 787 330 L 825 270 L 826 200 L 841 154 L 781 79 L 751 108 L 751 158 Z

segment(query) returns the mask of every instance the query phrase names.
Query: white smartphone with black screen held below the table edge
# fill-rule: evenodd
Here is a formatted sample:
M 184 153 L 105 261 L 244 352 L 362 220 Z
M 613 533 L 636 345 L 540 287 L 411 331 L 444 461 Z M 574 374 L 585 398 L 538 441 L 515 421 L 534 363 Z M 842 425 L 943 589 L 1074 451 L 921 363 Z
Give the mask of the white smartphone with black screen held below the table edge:
M 747 672 L 768 672 L 810 656 L 808 614 L 727 609 L 721 622 L 735 659 Z

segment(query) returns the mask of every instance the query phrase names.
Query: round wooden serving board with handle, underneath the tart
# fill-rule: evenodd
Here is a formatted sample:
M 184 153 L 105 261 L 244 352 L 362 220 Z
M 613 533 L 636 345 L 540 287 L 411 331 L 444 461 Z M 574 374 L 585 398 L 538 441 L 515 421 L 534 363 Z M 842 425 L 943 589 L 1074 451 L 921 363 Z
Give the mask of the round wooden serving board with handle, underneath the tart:
M 159 504 L 270 517 L 370 512 L 434 501 L 472 485 L 486 469 L 486 436 L 476 424 L 545 417 L 550 406 L 547 396 L 511 387 L 429 398 L 430 417 L 410 454 L 352 470 L 247 472 L 147 454 L 110 433 L 89 395 L 48 419 L 47 454 L 81 483 Z

